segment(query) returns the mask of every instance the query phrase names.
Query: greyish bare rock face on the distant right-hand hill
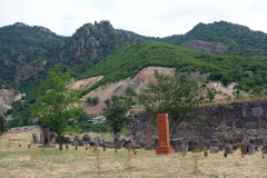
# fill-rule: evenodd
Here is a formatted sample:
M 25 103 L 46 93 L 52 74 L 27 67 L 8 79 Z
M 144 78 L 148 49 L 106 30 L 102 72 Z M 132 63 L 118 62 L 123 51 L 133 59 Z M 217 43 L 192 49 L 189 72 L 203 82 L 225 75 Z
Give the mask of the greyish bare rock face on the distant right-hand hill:
M 217 55 L 224 55 L 228 50 L 228 46 L 222 42 L 207 42 L 200 40 L 189 40 L 181 43 L 181 47 L 192 49 L 195 51 L 210 52 Z

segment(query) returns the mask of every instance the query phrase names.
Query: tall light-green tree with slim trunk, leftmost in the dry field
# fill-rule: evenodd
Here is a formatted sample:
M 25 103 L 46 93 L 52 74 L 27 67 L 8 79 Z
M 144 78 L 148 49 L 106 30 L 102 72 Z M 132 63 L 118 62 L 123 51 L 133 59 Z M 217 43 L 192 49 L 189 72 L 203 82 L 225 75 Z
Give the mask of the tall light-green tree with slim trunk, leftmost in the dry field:
M 80 103 L 78 91 L 69 89 L 70 76 L 60 73 L 60 63 L 48 72 L 46 80 L 41 80 L 41 87 L 46 91 L 37 99 L 37 106 L 32 109 L 32 115 L 39 120 L 55 128 L 59 137 L 59 150 L 62 150 L 61 132 L 62 123 L 69 118 L 75 118 L 77 111 L 76 103 Z

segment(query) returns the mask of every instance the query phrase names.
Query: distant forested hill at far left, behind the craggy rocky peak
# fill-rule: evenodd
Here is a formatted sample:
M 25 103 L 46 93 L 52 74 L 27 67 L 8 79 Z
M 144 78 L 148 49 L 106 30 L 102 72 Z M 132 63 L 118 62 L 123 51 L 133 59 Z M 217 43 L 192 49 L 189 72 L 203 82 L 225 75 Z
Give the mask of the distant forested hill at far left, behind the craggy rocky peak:
M 47 28 L 21 22 L 0 28 L 0 87 L 14 83 L 19 68 L 66 39 Z

